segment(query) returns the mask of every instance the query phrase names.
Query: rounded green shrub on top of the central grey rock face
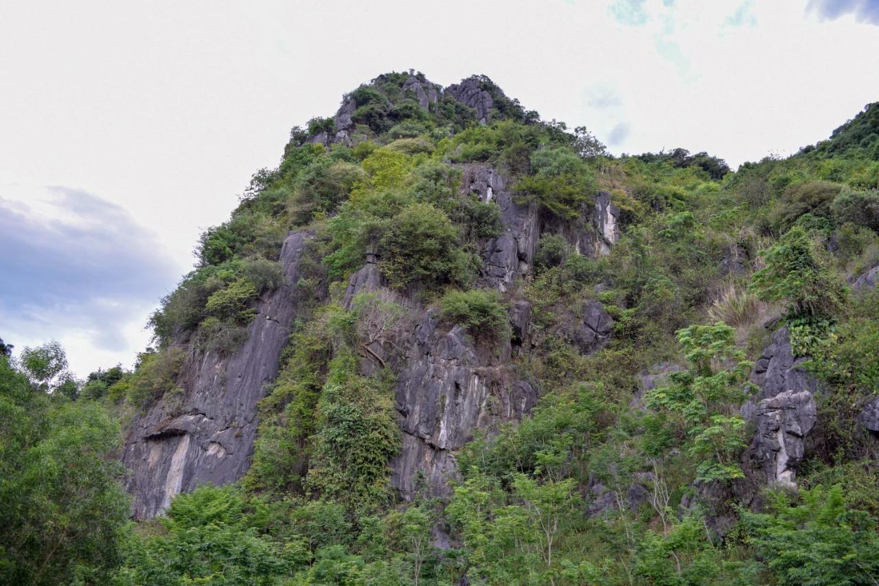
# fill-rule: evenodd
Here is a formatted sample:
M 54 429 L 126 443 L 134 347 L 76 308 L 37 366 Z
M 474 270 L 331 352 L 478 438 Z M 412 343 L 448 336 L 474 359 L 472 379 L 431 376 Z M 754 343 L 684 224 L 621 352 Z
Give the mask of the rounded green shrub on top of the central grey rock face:
M 442 316 L 476 336 L 499 339 L 509 328 L 509 316 L 495 289 L 449 291 L 440 301 Z

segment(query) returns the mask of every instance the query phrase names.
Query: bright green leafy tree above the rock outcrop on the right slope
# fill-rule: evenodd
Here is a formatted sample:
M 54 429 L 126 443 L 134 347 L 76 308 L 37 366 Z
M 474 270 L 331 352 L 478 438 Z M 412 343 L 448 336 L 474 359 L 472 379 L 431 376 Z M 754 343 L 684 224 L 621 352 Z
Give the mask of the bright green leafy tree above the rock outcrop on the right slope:
M 791 228 L 761 256 L 766 267 L 753 275 L 752 290 L 764 301 L 783 301 L 791 316 L 832 316 L 846 287 L 820 246 L 802 228 Z

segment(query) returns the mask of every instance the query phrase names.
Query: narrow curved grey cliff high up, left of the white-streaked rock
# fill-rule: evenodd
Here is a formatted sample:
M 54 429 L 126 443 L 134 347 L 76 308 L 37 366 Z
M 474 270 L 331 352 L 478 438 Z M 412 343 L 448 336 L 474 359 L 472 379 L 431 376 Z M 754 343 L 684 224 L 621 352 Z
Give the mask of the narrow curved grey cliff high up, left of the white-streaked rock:
M 481 284 L 505 291 L 534 261 L 541 228 L 539 209 L 534 203 L 513 201 L 505 179 L 486 165 L 467 165 L 461 189 L 477 194 L 481 201 L 496 202 L 501 210 L 504 232 L 483 246 Z

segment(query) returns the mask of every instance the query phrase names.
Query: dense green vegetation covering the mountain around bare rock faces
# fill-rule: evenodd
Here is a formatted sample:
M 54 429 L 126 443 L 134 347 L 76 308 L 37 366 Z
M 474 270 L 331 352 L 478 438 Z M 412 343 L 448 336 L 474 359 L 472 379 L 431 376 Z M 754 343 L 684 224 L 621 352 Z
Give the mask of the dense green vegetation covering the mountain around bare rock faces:
M 331 133 L 331 119 L 294 128 L 278 168 L 255 174 L 229 222 L 202 236 L 134 371 L 76 381 L 57 345 L 13 362 L 0 352 L 2 579 L 875 583 L 877 446 L 855 417 L 879 392 L 879 293 L 846 282 L 879 264 L 879 105 L 794 157 L 730 172 L 682 149 L 612 157 L 487 78 L 489 124 L 447 96 L 425 111 L 401 90 L 408 77 L 352 92 L 350 144 L 309 142 Z M 497 204 L 461 190 L 471 163 L 493 165 L 519 201 L 560 223 L 607 190 L 620 241 L 593 257 L 547 233 L 524 282 L 480 287 L 480 245 L 501 223 Z M 127 522 L 111 458 L 119 421 L 181 392 L 187 353 L 243 342 L 254 301 L 280 282 L 283 236 L 302 227 L 315 235 L 296 283 L 307 303 L 262 403 L 250 472 L 181 494 L 154 522 Z M 349 275 L 377 251 L 389 289 L 345 306 Z M 533 348 L 513 360 L 541 398 L 457 455 L 450 499 L 402 503 L 389 485 L 396 373 L 369 348 L 395 348 L 413 299 L 480 348 L 509 340 L 508 307 L 527 299 Z M 611 341 L 590 355 L 567 333 L 586 299 L 614 319 Z M 766 322 L 789 327 L 823 382 L 822 441 L 799 492 L 765 488 L 755 511 L 730 487 L 745 475 L 752 429 L 739 407 Z M 680 368 L 633 397 L 657 363 Z M 628 497 L 634 485 L 640 498 Z M 607 494 L 614 502 L 602 505 Z M 450 547 L 436 546 L 438 531 Z

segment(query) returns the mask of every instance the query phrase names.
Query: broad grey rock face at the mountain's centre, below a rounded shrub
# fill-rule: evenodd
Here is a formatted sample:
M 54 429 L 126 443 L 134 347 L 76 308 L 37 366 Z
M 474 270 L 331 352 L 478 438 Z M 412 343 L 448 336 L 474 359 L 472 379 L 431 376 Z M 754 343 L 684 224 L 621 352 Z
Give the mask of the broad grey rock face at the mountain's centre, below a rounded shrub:
M 435 312 L 426 311 L 397 376 L 403 450 L 391 462 L 392 486 L 405 500 L 419 487 L 431 496 L 448 496 L 454 451 L 477 428 L 521 419 L 536 399 L 537 392 L 511 369 L 480 359 L 460 326 L 445 331 Z

